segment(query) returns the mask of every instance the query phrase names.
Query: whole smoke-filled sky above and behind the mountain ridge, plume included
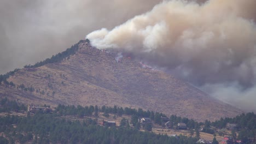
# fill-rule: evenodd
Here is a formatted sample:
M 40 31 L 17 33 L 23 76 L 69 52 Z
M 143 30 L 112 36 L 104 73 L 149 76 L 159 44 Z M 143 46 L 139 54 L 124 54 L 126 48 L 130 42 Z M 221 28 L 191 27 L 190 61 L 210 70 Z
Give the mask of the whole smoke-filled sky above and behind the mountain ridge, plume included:
M 124 44 L 118 44 L 119 48 L 132 47 L 133 53 L 214 97 L 243 110 L 255 111 L 255 1 L 211 0 L 206 4 L 165 1 L 152 10 L 161 2 L 3 0 L 0 2 L 0 73 L 51 57 L 95 29 L 106 28 L 106 34 L 114 34 L 111 29 L 115 26 L 140 15 L 137 18 L 150 17 L 155 21 L 152 21 L 154 25 L 145 21 L 141 27 L 148 27 L 151 35 L 148 40 L 153 39 L 154 43 L 140 44 L 144 36 L 136 39 L 141 40 L 139 43 L 134 43 L 131 36 L 136 33 L 129 35 L 129 31 L 122 31 L 127 38 Z M 172 3 L 176 3 L 176 7 Z M 175 13 L 165 11 L 170 5 L 173 8 L 170 11 Z M 151 12 L 143 14 L 146 11 Z M 154 30 L 154 26 L 152 33 L 150 27 Z M 122 25 L 115 29 L 122 29 Z M 173 45 L 170 41 L 177 43 Z M 112 39 L 108 44 L 116 42 Z M 154 51 L 145 54 L 138 49 L 143 50 L 144 46 Z M 181 49 L 177 51 L 177 47 Z M 98 45 L 98 48 L 101 47 Z

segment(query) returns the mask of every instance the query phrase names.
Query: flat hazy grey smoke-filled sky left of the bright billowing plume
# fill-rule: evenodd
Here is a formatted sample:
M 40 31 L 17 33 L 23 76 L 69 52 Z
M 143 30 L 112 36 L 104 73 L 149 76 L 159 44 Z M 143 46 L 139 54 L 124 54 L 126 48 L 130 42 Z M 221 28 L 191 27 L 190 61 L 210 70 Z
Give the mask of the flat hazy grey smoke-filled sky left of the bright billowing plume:
M 66 50 L 101 27 L 113 28 L 161 0 L 1 0 L 0 74 Z

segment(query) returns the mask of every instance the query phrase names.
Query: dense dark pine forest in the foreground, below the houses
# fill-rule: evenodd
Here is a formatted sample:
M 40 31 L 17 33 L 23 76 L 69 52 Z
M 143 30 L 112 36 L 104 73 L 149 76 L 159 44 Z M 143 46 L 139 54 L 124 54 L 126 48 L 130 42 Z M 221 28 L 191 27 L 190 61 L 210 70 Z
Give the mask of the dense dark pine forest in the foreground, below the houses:
M 131 127 L 102 127 L 95 120 L 69 121 L 54 114 L 36 113 L 27 117 L 0 117 L 0 143 L 195 143 L 180 135 L 170 137 L 142 132 Z

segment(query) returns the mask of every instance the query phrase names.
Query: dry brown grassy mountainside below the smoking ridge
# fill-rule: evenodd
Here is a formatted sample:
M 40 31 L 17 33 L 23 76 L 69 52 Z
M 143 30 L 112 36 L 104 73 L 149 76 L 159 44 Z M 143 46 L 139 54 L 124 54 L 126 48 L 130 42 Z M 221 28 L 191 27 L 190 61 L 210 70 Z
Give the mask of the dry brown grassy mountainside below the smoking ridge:
M 26 87 L 40 88 L 44 95 L 20 92 L 16 88 L 1 88 L 0 95 L 50 105 L 141 107 L 199 121 L 213 121 L 241 113 L 172 75 L 143 68 L 138 61 L 125 55 L 118 63 L 116 56 L 117 53 L 80 43 L 78 52 L 69 59 L 22 69 L 8 79 L 19 85 L 24 83 Z

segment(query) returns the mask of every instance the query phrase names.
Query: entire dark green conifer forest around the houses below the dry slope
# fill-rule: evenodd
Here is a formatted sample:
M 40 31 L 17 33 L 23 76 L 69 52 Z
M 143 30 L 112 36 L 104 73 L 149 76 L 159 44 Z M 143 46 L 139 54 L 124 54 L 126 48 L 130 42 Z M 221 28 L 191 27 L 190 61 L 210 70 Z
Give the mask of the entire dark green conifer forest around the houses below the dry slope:
M 0 101 L 1 112 L 25 110 L 26 107 L 16 101 L 10 101 L 7 98 Z M 116 116 L 130 115 L 132 126 L 130 127 L 129 121 L 125 118 L 121 120 L 120 127 L 108 128 L 97 125 L 99 112 L 102 112 L 106 118 L 110 113 Z M 65 116 L 78 117 L 83 121 L 70 121 L 65 119 Z M 187 124 L 188 130 L 191 131 L 191 137 L 182 135 L 170 137 L 141 132 L 138 124 L 139 117 L 149 117 L 154 124 L 162 125 L 164 123 L 162 117 L 166 117 L 166 115 L 129 107 L 58 105 L 51 113 L 38 111 L 33 116 L 31 113 L 27 113 L 27 117 L 10 115 L 0 117 L 0 133 L 5 135 L 5 137 L 0 137 L 0 143 L 16 141 L 21 143 L 27 141 L 33 141 L 33 143 L 195 143 L 200 138 L 200 128 L 203 128 L 202 132 L 224 136 L 222 129 L 225 129 L 228 123 L 237 124 L 236 129 L 232 130 L 229 135 L 232 139 L 242 140 L 243 143 L 252 143 L 256 136 L 256 115 L 253 112 L 234 118 L 221 118 L 215 122 L 207 120 L 196 122 L 193 119 L 176 115 L 171 115 L 168 118 L 168 121 L 172 123 L 172 129 L 176 128 L 177 123 Z M 152 125 L 144 125 L 144 130 L 151 131 Z M 194 133 L 195 136 L 192 137 Z

